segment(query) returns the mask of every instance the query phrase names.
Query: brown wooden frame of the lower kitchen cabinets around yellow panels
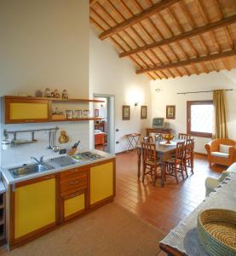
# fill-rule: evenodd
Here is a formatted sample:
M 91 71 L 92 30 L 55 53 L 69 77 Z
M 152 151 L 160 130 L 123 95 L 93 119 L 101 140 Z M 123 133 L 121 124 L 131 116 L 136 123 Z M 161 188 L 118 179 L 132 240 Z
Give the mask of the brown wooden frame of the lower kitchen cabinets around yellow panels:
M 104 200 L 97 201 L 95 204 L 90 205 L 90 167 L 93 166 L 100 166 L 106 163 L 112 162 L 113 164 L 113 194 Z M 87 172 L 87 179 L 88 179 L 88 186 L 84 189 L 78 189 L 78 191 L 75 191 L 73 193 L 69 193 L 67 195 L 60 195 L 60 179 L 62 178 L 68 178 L 68 177 L 79 177 L 81 173 Z M 55 223 L 49 224 L 47 226 L 44 226 L 41 229 L 34 230 L 25 236 L 20 236 L 19 238 L 14 238 L 14 198 L 15 198 L 15 189 L 19 188 L 21 186 L 25 186 L 32 183 L 38 183 L 45 179 L 54 178 L 55 177 Z M 81 210 L 79 212 L 75 212 L 74 214 L 67 216 L 64 218 L 64 203 L 66 199 L 70 199 L 73 196 L 76 195 L 82 195 L 84 194 L 84 210 Z M 43 177 L 36 177 L 31 180 L 26 180 L 20 183 L 16 183 L 13 185 L 9 185 L 9 189 L 7 191 L 7 241 L 9 243 L 9 248 L 13 249 L 14 247 L 19 247 L 20 245 L 32 241 L 37 236 L 42 236 L 44 233 L 49 232 L 50 230 L 54 230 L 56 227 L 59 227 L 60 224 L 64 224 L 67 220 L 70 220 L 72 218 L 78 218 L 80 216 L 83 216 L 83 214 L 86 214 L 86 212 L 90 212 L 95 210 L 98 207 L 101 207 L 105 205 L 108 202 L 113 201 L 114 196 L 116 195 L 116 159 L 112 158 L 110 160 L 103 160 L 100 162 L 96 162 L 95 164 L 87 165 L 87 166 L 80 166 L 76 168 L 72 168 L 66 171 L 49 174 Z

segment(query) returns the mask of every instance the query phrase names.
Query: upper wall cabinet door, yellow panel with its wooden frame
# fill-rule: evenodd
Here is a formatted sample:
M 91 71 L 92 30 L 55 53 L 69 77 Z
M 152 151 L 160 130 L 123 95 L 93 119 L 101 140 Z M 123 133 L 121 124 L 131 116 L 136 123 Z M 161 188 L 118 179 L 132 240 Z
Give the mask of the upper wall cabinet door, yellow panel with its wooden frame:
M 49 119 L 47 100 L 6 100 L 6 123 L 34 123 Z

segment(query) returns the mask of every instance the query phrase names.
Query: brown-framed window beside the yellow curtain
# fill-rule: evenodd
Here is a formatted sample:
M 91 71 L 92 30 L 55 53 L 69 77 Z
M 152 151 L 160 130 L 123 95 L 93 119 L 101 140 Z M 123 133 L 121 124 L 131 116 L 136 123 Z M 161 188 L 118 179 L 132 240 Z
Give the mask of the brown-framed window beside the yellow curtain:
M 213 102 L 187 102 L 187 133 L 197 137 L 212 137 Z

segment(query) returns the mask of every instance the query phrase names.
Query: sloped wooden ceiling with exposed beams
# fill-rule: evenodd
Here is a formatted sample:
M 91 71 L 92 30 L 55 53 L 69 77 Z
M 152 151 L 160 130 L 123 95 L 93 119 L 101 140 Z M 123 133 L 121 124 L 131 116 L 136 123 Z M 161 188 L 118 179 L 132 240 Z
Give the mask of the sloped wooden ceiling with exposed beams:
M 90 22 L 150 79 L 236 67 L 236 0 L 90 0 Z

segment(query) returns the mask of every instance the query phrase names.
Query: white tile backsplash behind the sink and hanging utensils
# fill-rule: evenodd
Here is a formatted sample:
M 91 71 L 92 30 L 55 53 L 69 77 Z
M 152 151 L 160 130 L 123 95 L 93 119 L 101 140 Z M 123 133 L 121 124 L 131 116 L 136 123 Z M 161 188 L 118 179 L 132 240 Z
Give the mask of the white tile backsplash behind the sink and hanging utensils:
M 89 149 L 89 121 L 83 122 L 59 122 L 59 123 L 40 123 L 40 124 L 20 124 L 20 125 L 4 125 L 1 124 L 1 135 L 3 138 L 3 130 L 17 131 L 17 130 L 33 130 L 54 128 L 58 126 L 59 131 L 56 134 L 56 145 L 61 148 L 71 148 L 72 145 L 78 140 L 81 141 L 78 146 L 78 152 Z M 60 137 L 60 131 L 66 131 L 69 137 L 69 142 L 66 144 L 60 144 L 58 138 Z M 31 133 L 21 133 L 17 135 L 17 139 L 31 139 Z M 9 138 L 13 138 L 13 135 L 9 135 Z M 49 131 L 37 131 L 35 132 L 35 139 L 37 143 L 11 146 L 7 150 L 1 148 L 1 167 L 14 166 L 31 161 L 31 157 L 45 156 L 45 158 L 51 158 L 59 156 L 59 153 L 55 153 L 52 149 L 48 149 L 49 146 Z

